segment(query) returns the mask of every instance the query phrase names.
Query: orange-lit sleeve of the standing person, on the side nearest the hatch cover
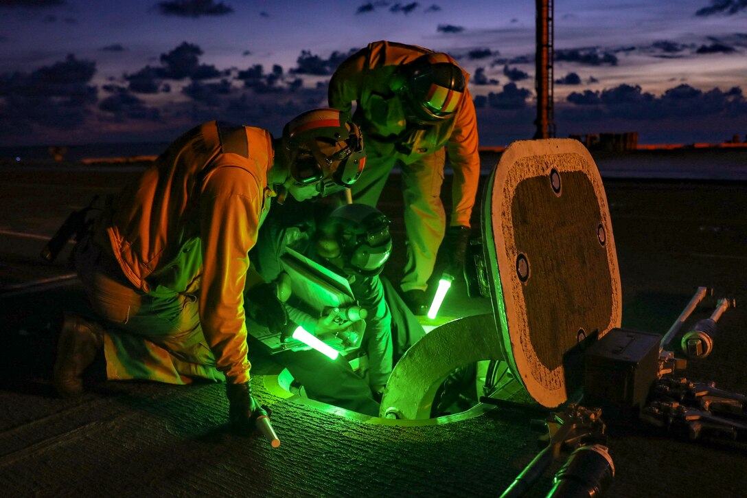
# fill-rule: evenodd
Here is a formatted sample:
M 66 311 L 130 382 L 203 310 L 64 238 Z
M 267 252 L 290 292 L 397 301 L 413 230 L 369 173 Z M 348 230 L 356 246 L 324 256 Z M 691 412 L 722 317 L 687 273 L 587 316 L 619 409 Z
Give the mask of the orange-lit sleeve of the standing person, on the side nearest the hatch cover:
M 456 114 L 456 123 L 446 144 L 449 162 L 454 170 L 453 210 L 450 225 L 470 226 L 472 208 L 480 181 L 480 154 L 477 152 L 477 115 L 469 90 Z

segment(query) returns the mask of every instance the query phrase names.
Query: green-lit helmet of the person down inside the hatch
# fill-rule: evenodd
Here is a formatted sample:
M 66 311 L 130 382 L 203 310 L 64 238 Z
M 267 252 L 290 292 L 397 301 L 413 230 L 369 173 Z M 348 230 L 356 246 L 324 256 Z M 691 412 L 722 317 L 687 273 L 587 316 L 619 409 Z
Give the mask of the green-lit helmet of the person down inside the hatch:
M 365 204 L 345 204 L 325 218 L 317 232 L 317 253 L 364 277 L 381 273 L 391 254 L 389 218 Z

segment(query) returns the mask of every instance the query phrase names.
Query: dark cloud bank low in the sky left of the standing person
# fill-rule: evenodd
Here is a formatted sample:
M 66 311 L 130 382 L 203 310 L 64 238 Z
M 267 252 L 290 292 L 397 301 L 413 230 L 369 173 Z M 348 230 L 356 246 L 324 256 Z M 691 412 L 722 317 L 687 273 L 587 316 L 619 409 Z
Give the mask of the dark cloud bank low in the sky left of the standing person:
M 182 43 L 161 55 L 160 64 L 124 74 L 121 84 L 111 79 L 99 89 L 90 85 L 96 64 L 69 55 L 32 73 L 0 74 L 0 136 L 7 143 L 111 141 L 113 133 L 131 140 L 170 140 L 217 116 L 279 133 L 300 112 L 326 105 L 328 82 L 316 79 L 305 87 L 301 76 L 329 74 L 356 51 L 329 57 L 302 52 L 292 72 L 279 65 L 219 70 L 202 64 L 199 46 Z M 173 84 L 185 79 L 186 84 Z M 187 98 L 165 104 L 143 96 L 172 87 Z

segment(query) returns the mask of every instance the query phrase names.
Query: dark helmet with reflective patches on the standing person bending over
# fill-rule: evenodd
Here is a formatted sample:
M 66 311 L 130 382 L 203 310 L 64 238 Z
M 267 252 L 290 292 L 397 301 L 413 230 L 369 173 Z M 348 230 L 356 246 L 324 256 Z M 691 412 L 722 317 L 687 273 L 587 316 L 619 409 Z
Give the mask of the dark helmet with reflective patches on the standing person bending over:
M 450 117 L 462 102 L 465 76 L 450 55 L 421 55 L 403 64 L 400 71 L 400 84 L 394 90 L 400 94 L 409 114 L 421 122 Z

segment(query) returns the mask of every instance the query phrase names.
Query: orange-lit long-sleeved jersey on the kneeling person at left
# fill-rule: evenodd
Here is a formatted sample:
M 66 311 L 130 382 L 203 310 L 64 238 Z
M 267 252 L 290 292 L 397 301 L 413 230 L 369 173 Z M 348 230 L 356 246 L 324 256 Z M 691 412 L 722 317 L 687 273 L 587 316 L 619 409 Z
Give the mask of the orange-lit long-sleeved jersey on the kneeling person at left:
M 229 383 L 249 380 L 247 253 L 274 196 L 272 165 L 267 131 L 202 124 L 125 188 L 95 230 L 137 289 L 197 295 L 202 333 Z

